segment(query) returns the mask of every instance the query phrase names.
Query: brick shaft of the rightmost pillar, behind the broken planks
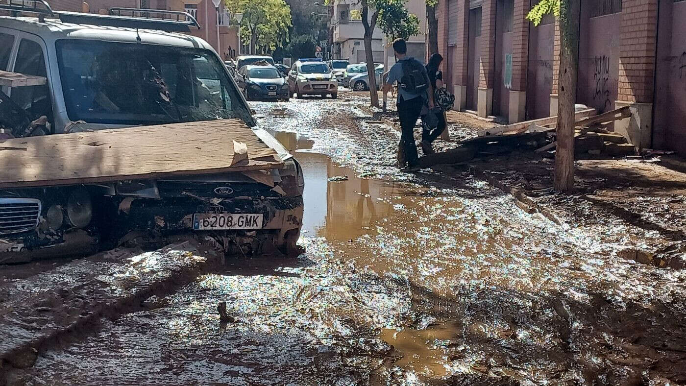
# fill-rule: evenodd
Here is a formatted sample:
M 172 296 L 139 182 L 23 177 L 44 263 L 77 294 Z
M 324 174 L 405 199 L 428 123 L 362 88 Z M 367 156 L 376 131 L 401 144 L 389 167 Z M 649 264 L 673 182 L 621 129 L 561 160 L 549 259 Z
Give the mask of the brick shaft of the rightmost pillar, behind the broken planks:
M 624 0 L 617 99 L 652 103 L 658 0 Z

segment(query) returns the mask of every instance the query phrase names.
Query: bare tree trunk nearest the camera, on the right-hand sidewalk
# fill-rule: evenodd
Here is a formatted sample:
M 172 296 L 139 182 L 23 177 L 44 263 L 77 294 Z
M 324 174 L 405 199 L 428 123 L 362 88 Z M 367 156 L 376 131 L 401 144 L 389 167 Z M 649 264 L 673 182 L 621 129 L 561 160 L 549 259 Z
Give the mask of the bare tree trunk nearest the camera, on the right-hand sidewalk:
M 579 50 L 579 3 L 565 0 L 560 5 L 560 81 L 558 83 L 557 149 L 555 152 L 556 191 L 574 189 L 574 104 Z

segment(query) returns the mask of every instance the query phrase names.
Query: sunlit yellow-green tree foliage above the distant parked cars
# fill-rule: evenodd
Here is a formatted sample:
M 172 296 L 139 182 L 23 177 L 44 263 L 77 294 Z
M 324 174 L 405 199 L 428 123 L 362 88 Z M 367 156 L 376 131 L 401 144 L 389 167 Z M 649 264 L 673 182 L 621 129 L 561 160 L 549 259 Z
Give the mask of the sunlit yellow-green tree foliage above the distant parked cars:
M 283 46 L 288 40 L 291 10 L 283 0 L 225 0 L 232 14 L 241 13 L 241 42 L 250 45 L 250 53 L 257 48 L 263 53 Z

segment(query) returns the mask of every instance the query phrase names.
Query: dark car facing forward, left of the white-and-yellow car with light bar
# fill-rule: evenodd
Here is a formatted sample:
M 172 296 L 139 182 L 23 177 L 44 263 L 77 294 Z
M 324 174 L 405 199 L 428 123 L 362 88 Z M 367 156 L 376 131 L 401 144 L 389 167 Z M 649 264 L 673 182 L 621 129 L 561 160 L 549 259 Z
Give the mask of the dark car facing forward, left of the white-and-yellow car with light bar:
M 236 82 L 246 100 L 289 100 L 288 82 L 272 66 L 243 66 L 238 71 Z

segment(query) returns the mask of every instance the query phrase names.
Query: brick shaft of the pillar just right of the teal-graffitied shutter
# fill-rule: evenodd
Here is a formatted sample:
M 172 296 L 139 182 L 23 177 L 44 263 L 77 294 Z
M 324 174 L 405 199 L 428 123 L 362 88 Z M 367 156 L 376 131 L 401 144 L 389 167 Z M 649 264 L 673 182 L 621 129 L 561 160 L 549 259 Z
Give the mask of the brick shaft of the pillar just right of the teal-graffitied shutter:
M 512 23 L 512 91 L 526 90 L 526 75 L 529 60 L 529 0 L 514 1 Z

